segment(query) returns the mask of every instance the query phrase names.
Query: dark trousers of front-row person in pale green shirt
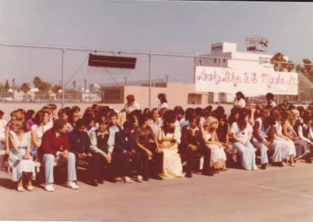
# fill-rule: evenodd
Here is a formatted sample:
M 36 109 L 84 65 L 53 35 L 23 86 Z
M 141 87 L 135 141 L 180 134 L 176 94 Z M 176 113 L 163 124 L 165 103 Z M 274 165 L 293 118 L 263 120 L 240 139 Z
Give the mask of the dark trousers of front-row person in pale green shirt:
M 103 180 L 104 179 L 104 173 L 107 171 L 107 177 L 113 178 L 113 163 L 114 162 L 121 162 L 122 158 L 120 155 L 117 155 L 116 153 L 111 153 L 111 163 L 108 163 L 106 160 L 106 157 L 102 155 L 101 153 L 93 153 L 95 155 L 95 162 L 93 167 L 93 173 L 91 173 L 91 178 Z M 106 171 L 104 169 L 106 167 Z

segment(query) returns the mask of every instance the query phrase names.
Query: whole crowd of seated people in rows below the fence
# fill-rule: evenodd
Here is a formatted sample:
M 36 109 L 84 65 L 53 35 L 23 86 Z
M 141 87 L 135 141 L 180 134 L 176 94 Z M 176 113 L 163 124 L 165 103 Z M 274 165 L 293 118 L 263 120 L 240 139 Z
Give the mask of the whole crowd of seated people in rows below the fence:
M 312 163 L 313 105 L 307 110 L 275 105 L 273 94 L 267 94 L 268 104 L 254 107 L 244 102 L 241 92 L 236 96 L 229 117 L 222 106 L 170 110 L 164 94 L 159 96 L 159 108 L 152 110 L 141 110 L 134 95 L 127 96 L 120 112 L 93 104 L 86 110 L 66 107 L 56 114 L 56 105 L 49 104 L 38 112 L 15 110 L 6 123 L 0 110 L 1 148 L 18 191 L 24 190 L 24 174 L 27 189 L 32 191 L 39 171 L 45 174 L 45 189 L 54 191 L 54 162 L 66 163 L 67 187 L 79 189 L 81 158 L 88 162 L 88 183 L 94 187 L 104 180 L 117 182 L 117 177 L 125 183 L 192 178 L 195 157 L 200 157 L 198 169 L 203 176 L 214 176 L 228 167 L 250 171 L 269 165 L 295 167 L 301 159 Z M 260 167 L 256 153 L 261 157 Z M 45 169 L 36 170 L 33 161 L 45 162 Z

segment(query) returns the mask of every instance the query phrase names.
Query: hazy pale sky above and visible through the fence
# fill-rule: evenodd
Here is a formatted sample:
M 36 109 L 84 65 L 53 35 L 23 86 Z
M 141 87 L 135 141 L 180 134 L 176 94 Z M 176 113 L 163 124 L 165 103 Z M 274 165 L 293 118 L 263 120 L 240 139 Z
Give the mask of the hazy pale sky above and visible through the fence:
M 246 52 L 245 37 L 259 36 L 268 38 L 267 55 L 280 52 L 302 63 L 313 58 L 312 12 L 313 3 L 290 2 L 0 0 L 0 43 L 202 55 L 217 42 Z M 138 70 L 109 76 L 88 69 L 88 53 L 65 51 L 65 82 L 76 80 L 78 87 L 86 78 L 88 84 L 147 79 L 149 56 L 127 56 L 138 56 Z M 190 82 L 192 61 L 152 56 L 152 78 Z M 39 75 L 58 84 L 61 71 L 62 51 L 0 46 L 1 83 L 15 78 L 22 85 Z

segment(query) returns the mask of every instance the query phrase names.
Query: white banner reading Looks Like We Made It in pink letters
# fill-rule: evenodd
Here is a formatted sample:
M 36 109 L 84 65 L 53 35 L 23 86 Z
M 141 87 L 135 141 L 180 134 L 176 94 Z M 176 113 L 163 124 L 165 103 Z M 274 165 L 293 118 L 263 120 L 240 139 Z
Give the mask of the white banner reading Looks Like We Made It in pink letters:
M 219 67 L 195 67 L 195 92 L 228 92 L 265 95 L 297 95 L 298 74 L 268 71 L 266 69 L 242 70 Z

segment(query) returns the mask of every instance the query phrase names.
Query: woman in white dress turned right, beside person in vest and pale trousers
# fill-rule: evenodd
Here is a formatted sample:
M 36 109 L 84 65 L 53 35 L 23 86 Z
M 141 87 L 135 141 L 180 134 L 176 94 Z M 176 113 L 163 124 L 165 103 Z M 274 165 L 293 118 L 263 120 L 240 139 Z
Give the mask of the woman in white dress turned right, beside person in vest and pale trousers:
M 280 111 L 273 109 L 271 110 L 270 117 L 273 117 L 276 121 L 274 128 L 275 128 L 275 133 L 274 133 L 274 142 L 278 142 L 280 144 L 280 160 L 282 162 L 282 165 L 285 166 L 287 165 L 284 160 L 289 161 L 289 165 L 291 167 L 296 167 L 294 164 L 294 157 L 296 157 L 296 146 L 294 146 L 294 142 L 289 139 L 289 137 L 286 137 L 282 134 L 282 125 L 281 119 L 282 119 L 282 114 Z

